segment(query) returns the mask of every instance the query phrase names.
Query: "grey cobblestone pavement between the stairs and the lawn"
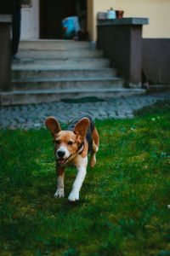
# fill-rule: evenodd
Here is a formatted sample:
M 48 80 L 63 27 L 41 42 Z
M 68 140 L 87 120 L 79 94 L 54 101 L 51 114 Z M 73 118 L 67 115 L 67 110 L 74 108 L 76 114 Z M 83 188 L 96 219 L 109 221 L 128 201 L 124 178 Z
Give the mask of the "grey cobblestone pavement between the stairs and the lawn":
M 170 93 L 107 99 L 104 102 L 54 102 L 2 107 L 0 128 L 38 129 L 45 126 L 44 121 L 48 116 L 54 116 L 65 124 L 82 113 L 90 113 L 94 119 L 133 118 L 134 110 L 164 99 L 170 100 Z

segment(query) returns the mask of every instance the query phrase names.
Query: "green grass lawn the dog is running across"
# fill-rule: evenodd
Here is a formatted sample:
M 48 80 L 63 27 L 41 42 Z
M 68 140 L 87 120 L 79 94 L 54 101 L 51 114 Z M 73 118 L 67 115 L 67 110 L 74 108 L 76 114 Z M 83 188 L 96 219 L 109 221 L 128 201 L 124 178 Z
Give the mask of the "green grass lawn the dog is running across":
M 0 255 L 170 255 L 170 103 L 96 121 L 100 148 L 80 201 L 54 199 L 50 132 L 0 131 Z

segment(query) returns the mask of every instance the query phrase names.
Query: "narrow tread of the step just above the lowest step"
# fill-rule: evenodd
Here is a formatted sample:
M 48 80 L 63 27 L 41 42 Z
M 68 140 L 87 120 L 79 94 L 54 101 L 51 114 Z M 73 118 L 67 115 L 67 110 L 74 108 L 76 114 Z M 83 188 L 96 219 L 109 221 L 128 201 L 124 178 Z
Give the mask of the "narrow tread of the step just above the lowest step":
M 13 83 L 42 83 L 42 82 L 77 82 L 77 81 L 119 81 L 122 80 L 121 78 L 87 78 L 87 79 L 13 79 Z

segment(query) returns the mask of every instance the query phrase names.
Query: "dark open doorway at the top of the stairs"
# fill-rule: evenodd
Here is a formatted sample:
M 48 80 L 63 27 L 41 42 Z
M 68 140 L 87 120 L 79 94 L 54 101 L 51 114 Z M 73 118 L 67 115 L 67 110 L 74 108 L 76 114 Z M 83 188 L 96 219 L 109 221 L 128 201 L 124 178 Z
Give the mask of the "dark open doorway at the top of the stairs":
M 81 28 L 87 29 L 87 0 L 41 0 L 40 38 L 63 38 L 61 20 L 75 15 L 79 17 Z

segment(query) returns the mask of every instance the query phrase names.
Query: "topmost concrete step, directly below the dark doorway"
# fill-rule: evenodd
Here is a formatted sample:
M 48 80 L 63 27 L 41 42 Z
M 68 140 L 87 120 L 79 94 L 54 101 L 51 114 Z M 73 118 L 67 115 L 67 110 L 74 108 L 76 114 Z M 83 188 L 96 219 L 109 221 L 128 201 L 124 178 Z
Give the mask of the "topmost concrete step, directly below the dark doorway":
M 80 42 L 74 40 L 32 40 L 32 41 L 21 41 L 20 49 L 90 49 L 92 48 L 92 43 L 90 42 Z

